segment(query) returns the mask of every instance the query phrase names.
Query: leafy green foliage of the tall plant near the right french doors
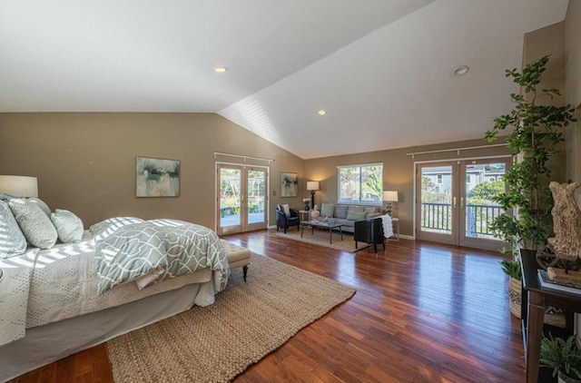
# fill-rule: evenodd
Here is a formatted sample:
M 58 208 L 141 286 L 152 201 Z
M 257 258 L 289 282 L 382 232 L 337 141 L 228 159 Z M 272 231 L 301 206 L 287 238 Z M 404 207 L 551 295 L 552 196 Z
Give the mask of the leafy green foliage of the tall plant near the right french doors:
M 488 131 L 488 142 L 497 140 L 507 128 L 507 144 L 522 157 L 507 171 L 504 181 L 507 191 L 493 198 L 504 211 L 492 221 L 497 237 L 511 244 L 505 254 L 515 254 L 521 248 L 537 250 L 547 244 L 550 235 L 550 213 L 553 197 L 548 189 L 550 170 L 547 162 L 558 152 L 556 145 L 563 141 L 562 128 L 576 121 L 570 104 L 554 106 L 540 103 L 559 95 L 557 89 L 539 89 L 549 57 L 546 55 L 527 64 L 522 73 L 507 70 L 507 77 L 520 85 L 522 94 L 512 93 L 515 107 L 494 119 L 494 128 Z M 512 212 L 516 211 L 516 214 Z

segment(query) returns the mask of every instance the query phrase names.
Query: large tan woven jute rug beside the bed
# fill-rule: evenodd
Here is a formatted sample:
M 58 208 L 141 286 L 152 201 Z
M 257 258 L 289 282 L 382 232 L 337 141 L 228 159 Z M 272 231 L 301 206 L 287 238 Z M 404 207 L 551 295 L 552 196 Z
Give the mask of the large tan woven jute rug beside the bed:
M 252 254 L 248 282 L 233 270 L 212 306 L 108 341 L 113 377 L 117 383 L 228 381 L 354 293 Z

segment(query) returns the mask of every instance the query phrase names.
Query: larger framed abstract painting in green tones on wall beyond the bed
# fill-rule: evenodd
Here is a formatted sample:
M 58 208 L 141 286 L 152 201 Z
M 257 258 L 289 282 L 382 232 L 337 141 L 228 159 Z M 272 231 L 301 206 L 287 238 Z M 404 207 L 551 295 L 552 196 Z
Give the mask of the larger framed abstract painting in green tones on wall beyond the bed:
M 179 197 L 180 161 L 137 157 L 135 159 L 136 197 Z

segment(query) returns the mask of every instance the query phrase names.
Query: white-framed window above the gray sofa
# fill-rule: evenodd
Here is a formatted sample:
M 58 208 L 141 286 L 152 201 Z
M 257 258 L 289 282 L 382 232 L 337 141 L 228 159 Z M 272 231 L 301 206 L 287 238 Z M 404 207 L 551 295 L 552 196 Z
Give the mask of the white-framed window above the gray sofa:
M 381 204 L 383 163 L 337 167 L 339 202 Z

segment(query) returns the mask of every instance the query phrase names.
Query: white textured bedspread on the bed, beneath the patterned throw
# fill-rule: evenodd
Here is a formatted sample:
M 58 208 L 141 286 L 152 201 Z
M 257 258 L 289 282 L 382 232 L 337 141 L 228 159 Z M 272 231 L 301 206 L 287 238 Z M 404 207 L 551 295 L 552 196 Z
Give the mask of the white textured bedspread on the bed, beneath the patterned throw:
M 212 304 L 216 292 L 216 275 L 212 275 L 212 270 L 199 270 L 143 290 L 138 290 L 134 282 L 124 283 L 99 296 L 94 241 L 89 231 L 84 232 L 79 243 L 31 250 L 0 260 L 0 268 L 5 270 L 0 280 L 0 346 L 22 338 L 28 328 L 112 308 L 187 284 L 203 283 L 195 300 L 200 306 Z M 30 287 L 26 290 L 28 279 Z M 18 293 L 5 294 L 5 287 L 10 286 Z

